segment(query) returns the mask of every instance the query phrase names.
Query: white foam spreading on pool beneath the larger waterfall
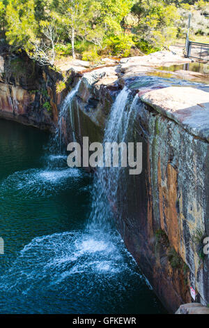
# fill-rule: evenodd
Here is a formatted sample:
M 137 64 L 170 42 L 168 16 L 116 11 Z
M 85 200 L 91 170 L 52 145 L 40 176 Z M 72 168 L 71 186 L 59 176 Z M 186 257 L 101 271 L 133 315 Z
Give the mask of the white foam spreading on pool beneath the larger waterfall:
M 116 279 L 118 274 L 141 278 L 133 270 L 134 260 L 130 258 L 127 262 L 127 258 L 128 253 L 116 235 L 111 241 L 105 236 L 100 239 L 100 234 L 96 239 L 85 232 L 37 237 L 23 248 L 8 273 L 0 278 L 0 289 L 21 288 L 25 293 L 37 285 L 48 289 L 77 274 L 82 274 L 78 283 L 85 276 L 102 279 L 103 283 L 107 278 Z

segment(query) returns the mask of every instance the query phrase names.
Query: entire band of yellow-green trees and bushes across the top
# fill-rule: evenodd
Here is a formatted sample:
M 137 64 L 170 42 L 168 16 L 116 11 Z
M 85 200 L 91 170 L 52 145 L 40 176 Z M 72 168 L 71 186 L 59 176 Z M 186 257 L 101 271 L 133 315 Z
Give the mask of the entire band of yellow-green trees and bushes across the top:
M 190 37 L 207 37 L 203 0 L 0 0 L 0 30 L 15 51 L 56 69 L 55 55 L 98 62 L 101 55 L 130 56 L 136 47 L 145 54 L 161 50 L 185 38 L 189 12 Z M 53 40 L 45 33 L 50 25 Z

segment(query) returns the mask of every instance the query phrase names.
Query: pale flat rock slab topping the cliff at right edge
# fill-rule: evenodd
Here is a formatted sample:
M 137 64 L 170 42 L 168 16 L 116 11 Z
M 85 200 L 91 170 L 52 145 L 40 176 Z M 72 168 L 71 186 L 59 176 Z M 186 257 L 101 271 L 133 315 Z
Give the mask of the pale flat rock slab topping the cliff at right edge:
M 167 87 L 150 91 L 141 100 L 192 135 L 209 142 L 208 92 L 192 87 Z

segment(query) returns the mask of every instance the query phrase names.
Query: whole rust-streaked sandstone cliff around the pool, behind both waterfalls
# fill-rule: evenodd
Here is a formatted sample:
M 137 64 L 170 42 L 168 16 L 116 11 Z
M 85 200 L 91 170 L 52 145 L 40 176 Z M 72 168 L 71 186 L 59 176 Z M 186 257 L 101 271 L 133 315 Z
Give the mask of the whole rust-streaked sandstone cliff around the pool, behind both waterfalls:
M 29 79 L 17 77 L 14 70 L 6 77 L 4 64 L 0 110 L 1 117 L 52 129 L 61 100 L 81 77 L 63 135 L 68 142 L 74 131 L 80 142 L 83 136 L 95 142 L 102 141 L 111 105 L 123 86 L 132 98 L 139 94 L 130 137 L 143 143 L 143 170 L 121 181 L 114 211 L 128 250 L 163 304 L 175 312 L 180 304 L 192 301 L 191 287 L 196 301 L 209 303 L 209 259 L 202 252 L 203 237 L 209 236 L 209 94 L 203 85 L 185 87 L 183 82 L 179 87 L 178 80 L 148 76 L 151 66 L 162 66 L 160 56 L 168 66 L 183 61 L 165 53 L 128 59 L 84 75 L 74 73 L 73 83 L 59 95 L 55 82 L 61 80 L 60 74 L 30 63 Z M 124 187 L 126 203 L 120 194 Z

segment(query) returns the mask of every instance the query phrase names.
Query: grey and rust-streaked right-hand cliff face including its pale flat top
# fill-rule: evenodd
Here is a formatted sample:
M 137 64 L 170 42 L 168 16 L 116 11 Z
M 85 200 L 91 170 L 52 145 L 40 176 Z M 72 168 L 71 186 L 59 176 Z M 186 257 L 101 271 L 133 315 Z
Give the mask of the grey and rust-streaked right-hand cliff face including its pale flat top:
M 170 260 L 173 271 L 180 270 L 179 283 L 181 278 L 185 282 L 185 288 L 182 286 L 176 293 L 177 299 L 189 301 L 192 287 L 196 299 L 206 305 L 209 268 L 208 255 L 202 253 L 202 248 L 203 237 L 209 234 L 209 94 L 171 87 L 150 91 L 142 100 L 148 104 L 141 114 L 141 124 L 148 131 L 151 154 L 148 177 L 152 211 L 148 221 L 166 232 L 173 257 L 183 260 L 180 265 L 172 263 L 174 258 Z M 167 272 L 167 281 L 169 276 Z

